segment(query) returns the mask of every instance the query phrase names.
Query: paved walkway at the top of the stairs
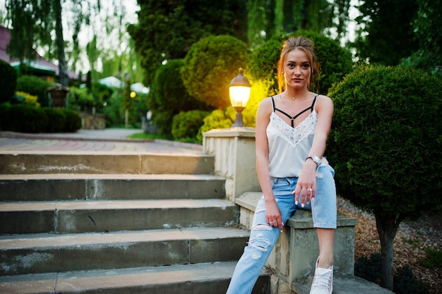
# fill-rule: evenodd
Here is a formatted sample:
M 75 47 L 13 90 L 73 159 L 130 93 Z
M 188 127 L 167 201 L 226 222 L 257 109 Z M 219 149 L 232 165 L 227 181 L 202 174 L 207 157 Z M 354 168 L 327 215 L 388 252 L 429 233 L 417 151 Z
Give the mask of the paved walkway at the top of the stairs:
M 0 132 L 0 154 L 5 152 L 112 152 L 112 153 L 174 153 L 201 154 L 201 145 L 167 140 L 136 140 L 129 135 L 138 129 L 106 128 L 78 130 L 76 133 L 14 133 Z

